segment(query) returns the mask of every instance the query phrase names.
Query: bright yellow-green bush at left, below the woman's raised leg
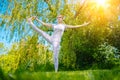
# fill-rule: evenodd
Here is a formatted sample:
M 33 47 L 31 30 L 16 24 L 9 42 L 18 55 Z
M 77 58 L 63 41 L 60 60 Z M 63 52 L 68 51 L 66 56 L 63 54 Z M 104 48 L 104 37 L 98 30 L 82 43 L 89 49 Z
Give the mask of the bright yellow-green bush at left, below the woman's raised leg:
M 53 69 L 52 52 L 38 44 L 37 37 L 14 44 L 11 50 L 0 57 L 0 66 L 6 73 L 44 71 Z

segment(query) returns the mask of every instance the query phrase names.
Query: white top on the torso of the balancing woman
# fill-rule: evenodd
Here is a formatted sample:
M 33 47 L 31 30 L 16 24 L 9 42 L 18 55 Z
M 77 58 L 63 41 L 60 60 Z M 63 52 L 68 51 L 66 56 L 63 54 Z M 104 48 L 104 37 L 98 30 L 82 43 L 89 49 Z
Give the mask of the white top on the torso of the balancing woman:
M 65 28 L 66 28 L 65 24 L 53 25 L 52 40 L 56 42 L 60 42 Z

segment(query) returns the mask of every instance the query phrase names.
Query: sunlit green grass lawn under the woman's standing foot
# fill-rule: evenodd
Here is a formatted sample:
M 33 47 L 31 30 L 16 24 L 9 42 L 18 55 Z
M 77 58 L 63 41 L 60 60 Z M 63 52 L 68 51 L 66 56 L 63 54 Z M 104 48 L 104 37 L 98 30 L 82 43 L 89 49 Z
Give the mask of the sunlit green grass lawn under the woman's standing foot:
M 9 75 L 10 76 L 10 75 Z M 119 70 L 85 70 L 55 72 L 24 72 L 12 75 L 14 80 L 120 80 Z

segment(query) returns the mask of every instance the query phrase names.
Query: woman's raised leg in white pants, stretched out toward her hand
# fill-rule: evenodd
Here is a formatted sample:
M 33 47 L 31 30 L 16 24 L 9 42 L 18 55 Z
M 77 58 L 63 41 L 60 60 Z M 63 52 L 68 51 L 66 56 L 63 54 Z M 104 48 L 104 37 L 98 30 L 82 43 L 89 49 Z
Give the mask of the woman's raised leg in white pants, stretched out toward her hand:
M 34 30 L 36 30 L 39 34 L 41 34 L 42 37 L 44 37 L 49 43 L 52 43 L 52 41 L 51 41 L 51 36 L 49 36 L 46 32 L 40 30 L 39 28 L 37 28 L 37 27 L 33 24 L 33 22 L 30 22 L 29 24 L 32 26 L 32 28 L 33 28 Z

